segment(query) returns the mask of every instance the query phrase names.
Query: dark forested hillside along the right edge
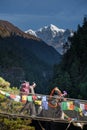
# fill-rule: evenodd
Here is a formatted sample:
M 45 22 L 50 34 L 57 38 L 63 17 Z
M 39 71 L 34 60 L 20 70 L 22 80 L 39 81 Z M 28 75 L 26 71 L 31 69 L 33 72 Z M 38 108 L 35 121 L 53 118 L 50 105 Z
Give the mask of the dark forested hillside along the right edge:
M 51 86 L 66 90 L 69 97 L 87 99 L 87 17 L 69 40 L 70 49 L 54 67 Z

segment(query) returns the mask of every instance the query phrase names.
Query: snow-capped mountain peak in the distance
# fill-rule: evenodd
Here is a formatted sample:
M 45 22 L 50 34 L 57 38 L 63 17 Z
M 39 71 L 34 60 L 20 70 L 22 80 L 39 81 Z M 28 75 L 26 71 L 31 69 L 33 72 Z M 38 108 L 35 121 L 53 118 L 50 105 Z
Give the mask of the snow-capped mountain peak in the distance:
M 59 29 L 53 24 L 40 28 L 37 31 L 29 29 L 25 33 L 41 38 L 48 45 L 53 46 L 60 54 L 63 54 L 63 44 L 67 42 L 68 37 L 73 36 L 72 30 Z

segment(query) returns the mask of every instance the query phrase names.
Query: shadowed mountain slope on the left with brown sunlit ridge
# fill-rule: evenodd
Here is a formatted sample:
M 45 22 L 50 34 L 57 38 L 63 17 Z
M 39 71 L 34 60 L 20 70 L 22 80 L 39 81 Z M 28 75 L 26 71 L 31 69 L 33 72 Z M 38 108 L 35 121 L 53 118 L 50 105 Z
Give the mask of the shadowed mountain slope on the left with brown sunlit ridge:
M 40 91 L 52 75 L 52 66 L 60 60 L 53 47 L 0 20 L 0 76 L 12 85 L 19 85 L 20 80 L 36 81 Z

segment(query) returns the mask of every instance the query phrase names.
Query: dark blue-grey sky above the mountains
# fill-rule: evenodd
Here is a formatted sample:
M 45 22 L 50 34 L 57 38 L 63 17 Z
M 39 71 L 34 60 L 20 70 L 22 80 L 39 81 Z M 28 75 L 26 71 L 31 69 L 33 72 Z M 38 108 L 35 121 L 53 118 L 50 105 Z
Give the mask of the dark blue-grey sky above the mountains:
M 87 15 L 87 0 L 0 0 L 0 20 L 20 28 L 38 30 L 54 24 L 76 30 Z

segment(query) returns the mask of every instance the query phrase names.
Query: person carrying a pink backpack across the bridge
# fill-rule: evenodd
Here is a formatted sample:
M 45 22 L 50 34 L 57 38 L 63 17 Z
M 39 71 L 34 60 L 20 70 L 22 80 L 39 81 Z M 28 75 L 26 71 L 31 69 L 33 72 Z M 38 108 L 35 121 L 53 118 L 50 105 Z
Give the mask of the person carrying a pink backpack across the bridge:
M 28 95 L 35 94 L 35 91 L 34 91 L 35 87 L 36 87 L 35 82 L 33 82 L 33 84 L 30 85 L 29 82 L 24 81 L 21 85 L 21 88 L 20 88 L 21 98 L 22 98 L 23 95 L 28 96 Z M 35 106 L 34 106 L 33 102 L 26 101 L 24 107 L 20 110 L 20 113 L 23 113 L 23 111 L 26 110 L 26 109 L 27 109 L 27 112 L 29 112 L 31 116 L 36 115 L 36 110 L 35 110 Z

